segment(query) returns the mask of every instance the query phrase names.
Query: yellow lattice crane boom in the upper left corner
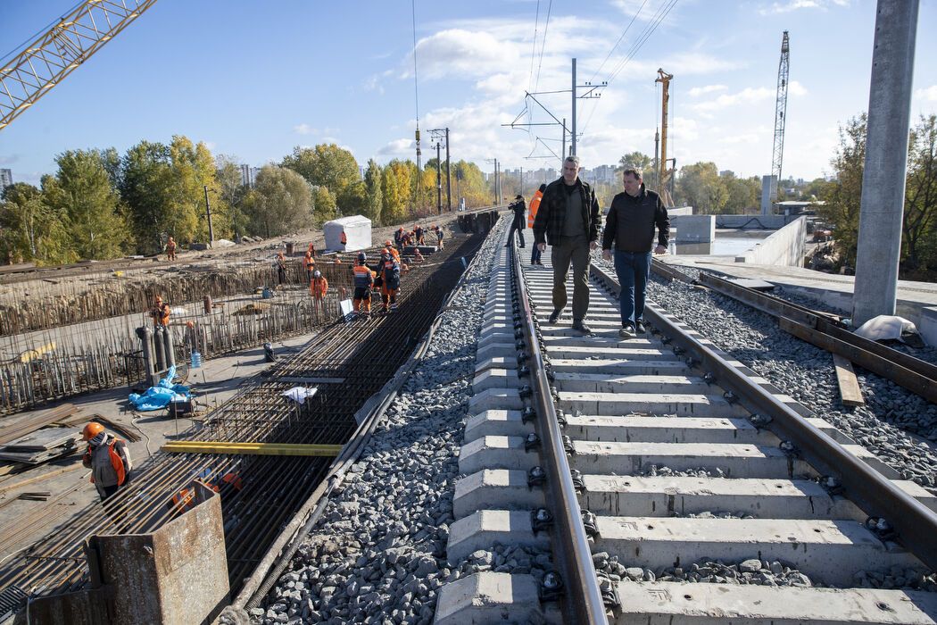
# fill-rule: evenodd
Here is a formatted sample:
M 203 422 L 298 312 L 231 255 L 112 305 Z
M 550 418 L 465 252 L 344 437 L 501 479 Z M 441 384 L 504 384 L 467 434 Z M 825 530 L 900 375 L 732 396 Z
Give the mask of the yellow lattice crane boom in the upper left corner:
M 0 130 L 156 0 L 85 0 L 0 67 Z

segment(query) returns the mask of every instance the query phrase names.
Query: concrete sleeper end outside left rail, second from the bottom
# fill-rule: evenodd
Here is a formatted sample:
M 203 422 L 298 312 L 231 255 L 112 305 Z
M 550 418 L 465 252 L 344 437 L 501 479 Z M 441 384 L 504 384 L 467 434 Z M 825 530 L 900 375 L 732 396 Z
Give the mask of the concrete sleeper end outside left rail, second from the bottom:
M 453 523 L 449 528 L 446 557 L 451 566 L 479 549 L 490 551 L 495 543 L 545 548 L 550 536 L 530 528 L 530 513 L 508 510 L 480 510 Z

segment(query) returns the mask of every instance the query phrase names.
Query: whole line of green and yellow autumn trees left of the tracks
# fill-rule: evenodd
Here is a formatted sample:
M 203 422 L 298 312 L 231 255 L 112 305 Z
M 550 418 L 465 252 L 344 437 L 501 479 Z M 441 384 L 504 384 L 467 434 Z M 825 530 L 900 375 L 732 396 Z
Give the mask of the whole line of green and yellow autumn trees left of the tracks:
M 355 157 L 334 143 L 294 148 L 262 167 L 253 184 L 244 184 L 236 158 L 213 156 L 185 136 L 141 141 L 124 155 L 69 150 L 55 165 L 39 186 L 16 183 L 0 192 L 0 261 L 152 255 L 170 236 L 183 246 L 207 242 L 206 202 L 216 239 L 280 236 L 343 215 L 383 225 L 436 213 L 436 159 L 423 169 L 409 159 L 383 167 L 370 159 L 362 176 Z M 454 203 L 491 203 L 478 166 L 460 160 L 452 167 Z M 445 185 L 445 162 L 441 170 Z

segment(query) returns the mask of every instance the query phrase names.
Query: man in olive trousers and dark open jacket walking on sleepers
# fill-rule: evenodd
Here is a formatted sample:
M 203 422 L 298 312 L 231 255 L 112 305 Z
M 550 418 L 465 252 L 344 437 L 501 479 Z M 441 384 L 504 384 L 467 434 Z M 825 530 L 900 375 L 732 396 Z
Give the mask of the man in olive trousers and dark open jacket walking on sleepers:
M 533 222 L 533 238 L 541 252 L 551 246 L 553 263 L 553 313 L 556 323 L 566 306 L 566 274 L 573 264 L 573 330 L 589 334 L 589 250 L 599 244 L 599 202 L 592 187 L 579 179 L 579 156 L 567 156 L 563 175 L 543 191 L 543 200 Z

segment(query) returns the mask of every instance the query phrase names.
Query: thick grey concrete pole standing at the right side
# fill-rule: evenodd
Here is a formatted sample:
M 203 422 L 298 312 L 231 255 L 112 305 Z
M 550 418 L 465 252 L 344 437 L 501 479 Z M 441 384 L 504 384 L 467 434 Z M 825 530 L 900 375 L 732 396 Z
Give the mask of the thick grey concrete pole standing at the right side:
M 918 0 L 879 0 L 859 207 L 853 323 L 894 315 Z

